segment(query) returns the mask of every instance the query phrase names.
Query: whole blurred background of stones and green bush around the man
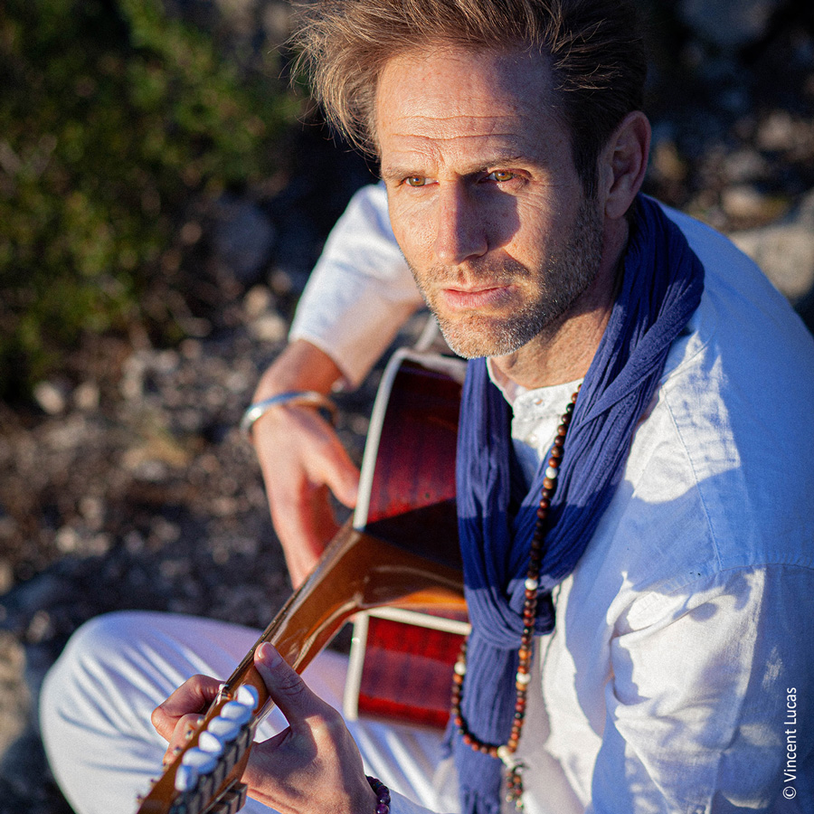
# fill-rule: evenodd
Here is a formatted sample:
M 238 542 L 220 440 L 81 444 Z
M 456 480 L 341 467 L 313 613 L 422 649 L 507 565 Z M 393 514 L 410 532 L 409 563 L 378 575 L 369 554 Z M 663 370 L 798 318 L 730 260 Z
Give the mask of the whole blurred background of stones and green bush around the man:
M 639 2 L 648 192 L 731 234 L 814 326 L 814 7 Z M 0 7 L 0 812 L 70 812 L 34 711 L 82 621 L 265 627 L 288 595 L 235 425 L 373 178 L 287 90 L 290 14 Z M 375 383 L 340 399 L 357 459 Z

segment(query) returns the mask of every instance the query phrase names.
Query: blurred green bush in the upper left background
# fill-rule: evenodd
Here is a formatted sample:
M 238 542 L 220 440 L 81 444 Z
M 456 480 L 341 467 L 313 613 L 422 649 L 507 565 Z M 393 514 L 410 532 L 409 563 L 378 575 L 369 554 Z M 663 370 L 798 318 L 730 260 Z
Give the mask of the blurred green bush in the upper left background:
M 0 397 L 145 319 L 192 198 L 273 173 L 296 107 L 265 74 L 160 0 L 0 5 Z

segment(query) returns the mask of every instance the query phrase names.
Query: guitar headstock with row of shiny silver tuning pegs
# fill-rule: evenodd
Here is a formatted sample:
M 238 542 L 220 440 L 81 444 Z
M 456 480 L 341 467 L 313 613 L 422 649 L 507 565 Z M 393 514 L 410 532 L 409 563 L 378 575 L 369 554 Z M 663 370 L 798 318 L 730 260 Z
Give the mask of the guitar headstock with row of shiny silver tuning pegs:
M 241 776 L 258 724 L 260 696 L 251 684 L 222 690 L 204 720 L 166 766 L 137 814 L 235 814 L 246 802 Z

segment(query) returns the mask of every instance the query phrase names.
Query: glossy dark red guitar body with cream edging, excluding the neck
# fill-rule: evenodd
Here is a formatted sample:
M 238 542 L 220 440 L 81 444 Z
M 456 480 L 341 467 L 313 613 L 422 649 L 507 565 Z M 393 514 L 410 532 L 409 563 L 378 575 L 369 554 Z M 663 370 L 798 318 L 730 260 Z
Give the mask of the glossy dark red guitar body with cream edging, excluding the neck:
M 455 457 L 465 370 L 465 363 L 449 357 L 404 350 L 394 356 L 379 386 L 365 448 L 360 491 L 368 497 L 354 516 L 354 525 L 384 539 L 399 535 L 403 516 L 416 516 L 420 539 L 402 544 L 430 558 L 428 546 L 439 546 L 444 559 L 456 563 Z M 368 455 L 376 442 L 375 454 Z M 443 729 L 452 666 L 468 632 L 464 602 L 459 608 L 387 606 L 357 614 L 345 718 Z

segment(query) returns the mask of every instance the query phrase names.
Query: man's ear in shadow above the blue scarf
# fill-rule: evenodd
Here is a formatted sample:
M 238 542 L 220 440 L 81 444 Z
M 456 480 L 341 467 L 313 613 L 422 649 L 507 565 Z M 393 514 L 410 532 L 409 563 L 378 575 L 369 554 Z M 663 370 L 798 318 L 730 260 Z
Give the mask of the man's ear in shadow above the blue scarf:
M 650 123 L 640 110 L 622 119 L 600 156 L 600 194 L 611 220 L 623 217 L 639 193 L 648 168 Z

